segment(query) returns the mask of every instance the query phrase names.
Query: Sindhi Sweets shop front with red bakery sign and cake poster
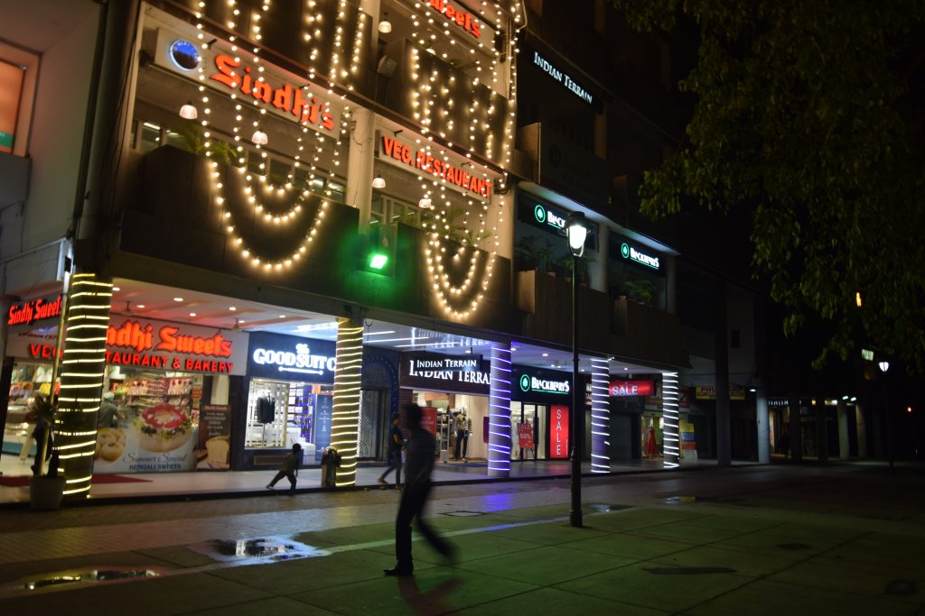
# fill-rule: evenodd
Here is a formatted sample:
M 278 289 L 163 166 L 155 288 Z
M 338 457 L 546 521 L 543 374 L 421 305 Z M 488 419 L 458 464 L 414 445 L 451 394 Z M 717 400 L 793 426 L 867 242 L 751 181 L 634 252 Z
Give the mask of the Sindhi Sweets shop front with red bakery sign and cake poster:
M 228 382 L 246 345 L 244 332 L 113 314 L 93 473 L 228 470 Z

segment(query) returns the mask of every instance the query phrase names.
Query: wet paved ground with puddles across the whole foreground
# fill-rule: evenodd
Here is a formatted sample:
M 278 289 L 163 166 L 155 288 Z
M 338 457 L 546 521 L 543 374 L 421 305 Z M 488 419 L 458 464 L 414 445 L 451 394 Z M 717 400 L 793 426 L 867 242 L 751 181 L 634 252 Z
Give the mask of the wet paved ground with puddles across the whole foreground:
M 458 561 L 418 541 L 415 575 L 400 579 L 381 574 L 394 562 L 388 489 L 245 499 L 235 511 L 212 501 L 7 512 L 6 528 L 45 516 L 50 530 L 0 533 L 0 610 L 921 614 L 923 485 L 854 466 L 598 477 L 583 528 L 568 525 L 566 482 L 448 486 L 430 515 Z M 248 513 L 257 501 L 264 511 Z M 200 516 L 207 506 L 214 515 Z M 132 511 L 169 519 L 113 519 Z M 106 519 L 88 525 L 93 514 Z M 91 571 L 153 575 L 88 581 Z M 83 577 L 26 588 L 52 573 Z

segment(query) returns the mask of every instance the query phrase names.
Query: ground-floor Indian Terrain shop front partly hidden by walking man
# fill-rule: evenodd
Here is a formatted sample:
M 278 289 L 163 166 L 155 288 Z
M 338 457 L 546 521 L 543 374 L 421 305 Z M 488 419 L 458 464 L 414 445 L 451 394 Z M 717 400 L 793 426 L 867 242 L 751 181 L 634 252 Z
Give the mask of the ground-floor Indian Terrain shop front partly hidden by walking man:
M 444 461 L 455 457 L 460 440 L 460 458 L 487 459 L 491 382 L 487 359 L 472 354 L 403 353 L 399 378 L 401 399 L 424 409 L 424 426 L 437 437 Z

